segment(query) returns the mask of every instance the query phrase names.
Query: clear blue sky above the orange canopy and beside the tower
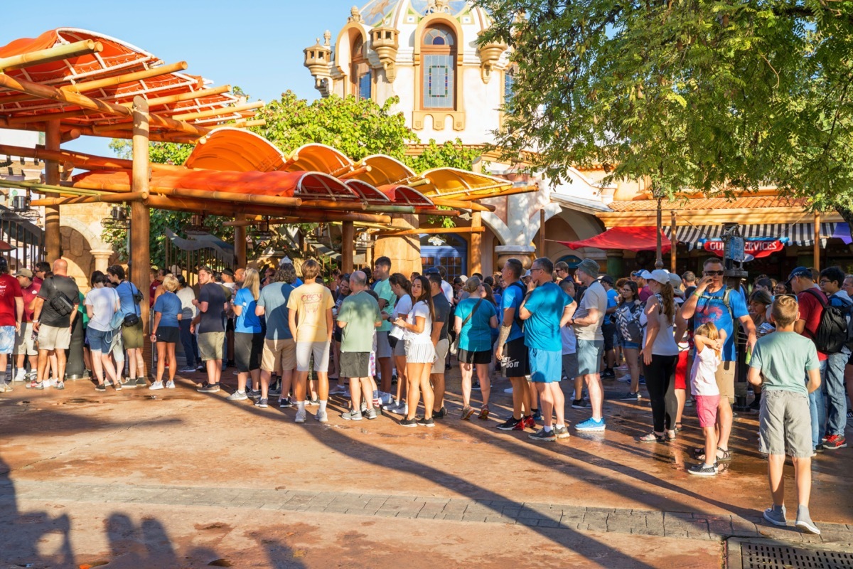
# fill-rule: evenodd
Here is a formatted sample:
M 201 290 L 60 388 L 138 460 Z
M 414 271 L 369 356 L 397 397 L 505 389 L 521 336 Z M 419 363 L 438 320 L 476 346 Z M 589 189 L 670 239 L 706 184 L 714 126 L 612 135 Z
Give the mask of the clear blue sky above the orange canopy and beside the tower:
M 356 0 L 361 8 L 367 0 Z M 146 0 L 141 3 L 4 2 L 0 45 L 56 27 L 101 32 L 146 49 L 165 63 L 187 61 L 187 73 L 239 85 L 252 101 L 293 90 L 314 100 L 302 50 L 330 30 L 333 41 L 354 0 Z M 138 7 L 138 8 L 137 8 Z M 112 155 L 108 138 L 83 136 L 67 148 Z

